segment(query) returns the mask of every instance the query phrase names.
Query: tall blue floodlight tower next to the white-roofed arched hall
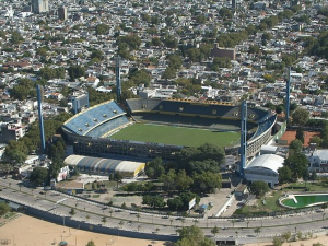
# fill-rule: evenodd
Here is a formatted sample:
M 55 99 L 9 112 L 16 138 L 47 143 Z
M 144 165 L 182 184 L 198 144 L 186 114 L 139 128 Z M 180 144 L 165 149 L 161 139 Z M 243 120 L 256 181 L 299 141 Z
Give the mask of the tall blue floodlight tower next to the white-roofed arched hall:
M 239 161 L 239 176 L 244 177 L 244 169 L 246 166 L 247 154 L 247 102 L 243 101 L 241 105 L 241 161 Z

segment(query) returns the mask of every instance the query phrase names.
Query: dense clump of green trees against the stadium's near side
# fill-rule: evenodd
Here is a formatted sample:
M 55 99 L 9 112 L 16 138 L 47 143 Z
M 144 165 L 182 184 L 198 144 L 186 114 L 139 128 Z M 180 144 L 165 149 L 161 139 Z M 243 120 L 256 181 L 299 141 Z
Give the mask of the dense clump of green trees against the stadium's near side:
M 164 183 L 165 189 L 198 190 L 212 192 L 221 188 L 220 165 L 224 151 L 211 143 L 198 148 L 186 148 L 177 153 L 174 163 L 164 166 L 161 159 L 154 159 L 145 166 L 145 174 Z

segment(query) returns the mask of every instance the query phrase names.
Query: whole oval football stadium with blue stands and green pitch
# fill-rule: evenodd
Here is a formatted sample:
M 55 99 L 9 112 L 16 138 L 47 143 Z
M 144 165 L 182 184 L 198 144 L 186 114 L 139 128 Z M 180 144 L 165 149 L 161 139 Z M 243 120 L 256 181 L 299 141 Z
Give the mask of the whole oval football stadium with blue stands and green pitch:
M 236 154 L 239 115 L 239 106 L 216 102 L 137 98 L 120 107 L 110 101 L 74 115 L 62 130 L 78 155 L 174 160 L 181 148 L 204 142 Z M 247 108 L 247 157 L 271 140 L 276 119 L 262 108 Z

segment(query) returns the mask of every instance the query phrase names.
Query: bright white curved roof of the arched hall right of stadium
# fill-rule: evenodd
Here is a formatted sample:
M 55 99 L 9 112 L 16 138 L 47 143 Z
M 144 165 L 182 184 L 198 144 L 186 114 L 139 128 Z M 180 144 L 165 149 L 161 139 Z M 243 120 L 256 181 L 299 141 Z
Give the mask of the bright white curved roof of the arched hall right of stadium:
M 283 166 L 284 159 L 277 154 L 263 154 L 257 156 L 246 166 L 246 169 L 269 169 L 278 174 L 278 169 Z

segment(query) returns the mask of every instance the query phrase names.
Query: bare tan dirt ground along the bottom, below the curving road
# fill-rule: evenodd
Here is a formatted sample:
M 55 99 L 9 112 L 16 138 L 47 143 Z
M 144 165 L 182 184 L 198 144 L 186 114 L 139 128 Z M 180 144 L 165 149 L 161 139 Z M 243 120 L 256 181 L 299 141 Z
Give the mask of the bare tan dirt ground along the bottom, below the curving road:
M 171 246 L 169 242 L 151 242 L 145 239 L 133 239 L 127 237 L 112 236 L 98 233 L 85 232 L 77 229 L 69 229 L 62 225 L 52 224 L 32 216 L 22 215 L 0 226 L 0 245 L 17 246 L 46 246 L 59 245 L 61 241 L 68 242 L 68 246 L 85 246 L 87 242 L 94 241 L 96 246 Z M 8 244 L 3 244 L 7 241 Z M 312 246 L 314 243 L 321 243 L 328 246 L 328 236 L 321 235 L 309 241 L 288 243 L 283 245 Z M 270 243 L 248 244 L 247 246 L 269 246 Z

